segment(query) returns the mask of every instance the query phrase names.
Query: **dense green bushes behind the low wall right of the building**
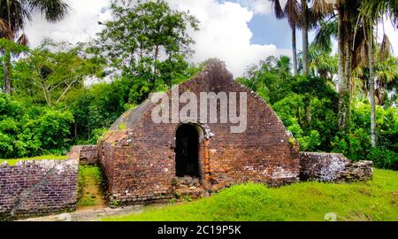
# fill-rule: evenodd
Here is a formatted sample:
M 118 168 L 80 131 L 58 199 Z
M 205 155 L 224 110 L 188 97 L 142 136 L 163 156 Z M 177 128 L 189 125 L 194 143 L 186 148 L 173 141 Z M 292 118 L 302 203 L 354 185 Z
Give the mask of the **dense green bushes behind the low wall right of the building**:
M 371 107 L 366 97 L 355 101 L 347 133 L 341 133 L 337 120 L 339 94 L 333 85 L 323 77 L 292 76 L 283 67 L 285 61 L 285 57 L 267 58 L 250 67 L 247 77 L 238 81 L 272 105 L 302 150 L 341 152 L 354 160 L 369 159 L 378 167 L 398 169 L 396 107 L 376 107 L 379 145 L 372 149 Z M 396 81 L 398 73 L 394 77 Z

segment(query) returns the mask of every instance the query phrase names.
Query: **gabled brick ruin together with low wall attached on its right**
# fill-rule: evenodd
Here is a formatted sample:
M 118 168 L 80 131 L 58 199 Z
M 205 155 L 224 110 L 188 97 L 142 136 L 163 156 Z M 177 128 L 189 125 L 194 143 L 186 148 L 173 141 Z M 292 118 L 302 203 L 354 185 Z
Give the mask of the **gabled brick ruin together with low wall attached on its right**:
M 353 163 L 341 154 L 300 152 L 299 143 L 272 108 L 255 92 L 233 81 L 222 62 L 210 61 L 193 80 L 182 83 L 177 94 L 172 89 L 164 96 L 172 104 L 173 96 L 185 92 L 195 96 L 212 93 L 206 102 L 216 102 L 218 113 L 227 106 L 218 102 L 218 93 L 229 97 L 246 93 L 246 130 L 231 133 L 236 126 L 232 120 L 210 121 L 208 107 L 204 119 L 199 110 L 195 120 L 173 121 L 170 111 L 164 119 L 167 123 L 155 123 L 153 112 L 161 102 L 146 101 L 124 113 L 97 146 L 83 146 L 80 153 L 83 162 L 97 160 L 102 166 L 110 204 L 149 204 L 184 195 L 203 197 L 249 181 L 275 187 L 308 180 L 372 178 L 371 162 Z M 243 102 L 239 96 L 235 99 L 239 115 Z M 197 109 L 201 109 L 200 103 L 202 99 L 194 103 Z M 177 110 L 185 105 L 180 104 Z

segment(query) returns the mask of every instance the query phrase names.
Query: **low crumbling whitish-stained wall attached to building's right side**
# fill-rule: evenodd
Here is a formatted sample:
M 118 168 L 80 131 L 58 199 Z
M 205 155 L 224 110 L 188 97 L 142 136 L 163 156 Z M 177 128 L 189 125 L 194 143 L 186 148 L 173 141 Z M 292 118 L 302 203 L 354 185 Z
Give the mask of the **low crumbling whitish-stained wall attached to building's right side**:
M 369 181 L 372 162 L 352 162 L 342 154 L 301 152 L 301 181 Z

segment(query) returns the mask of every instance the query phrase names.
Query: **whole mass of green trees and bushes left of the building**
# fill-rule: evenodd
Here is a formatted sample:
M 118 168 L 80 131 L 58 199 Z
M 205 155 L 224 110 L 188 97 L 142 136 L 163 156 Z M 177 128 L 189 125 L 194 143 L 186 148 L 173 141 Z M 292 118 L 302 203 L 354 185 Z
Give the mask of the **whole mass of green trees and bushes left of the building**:
M 46 39 L 28 50 L 0 40 L 2 49 L 25 51 L 12 62 L 11 96 L 1 95 L 0 158 L 65 153 L 74 143 L 96 143 L 150 92 L 197 73 L 199 67 L 186 61 L 193 43 L 188 27 L 197 29 L 193 16 L 160 0 L 114 2 L 111 9 L 115 18 L 88 44 Z

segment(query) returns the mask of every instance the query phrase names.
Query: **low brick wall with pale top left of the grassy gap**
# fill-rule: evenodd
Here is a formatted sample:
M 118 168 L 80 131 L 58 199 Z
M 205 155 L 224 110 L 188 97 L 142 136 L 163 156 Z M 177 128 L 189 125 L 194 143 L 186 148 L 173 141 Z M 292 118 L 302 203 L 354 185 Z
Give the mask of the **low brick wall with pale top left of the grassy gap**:
M 29 160 L 0 166 L 0 220 L 15 220 L 76 209 L 76 159 Z

